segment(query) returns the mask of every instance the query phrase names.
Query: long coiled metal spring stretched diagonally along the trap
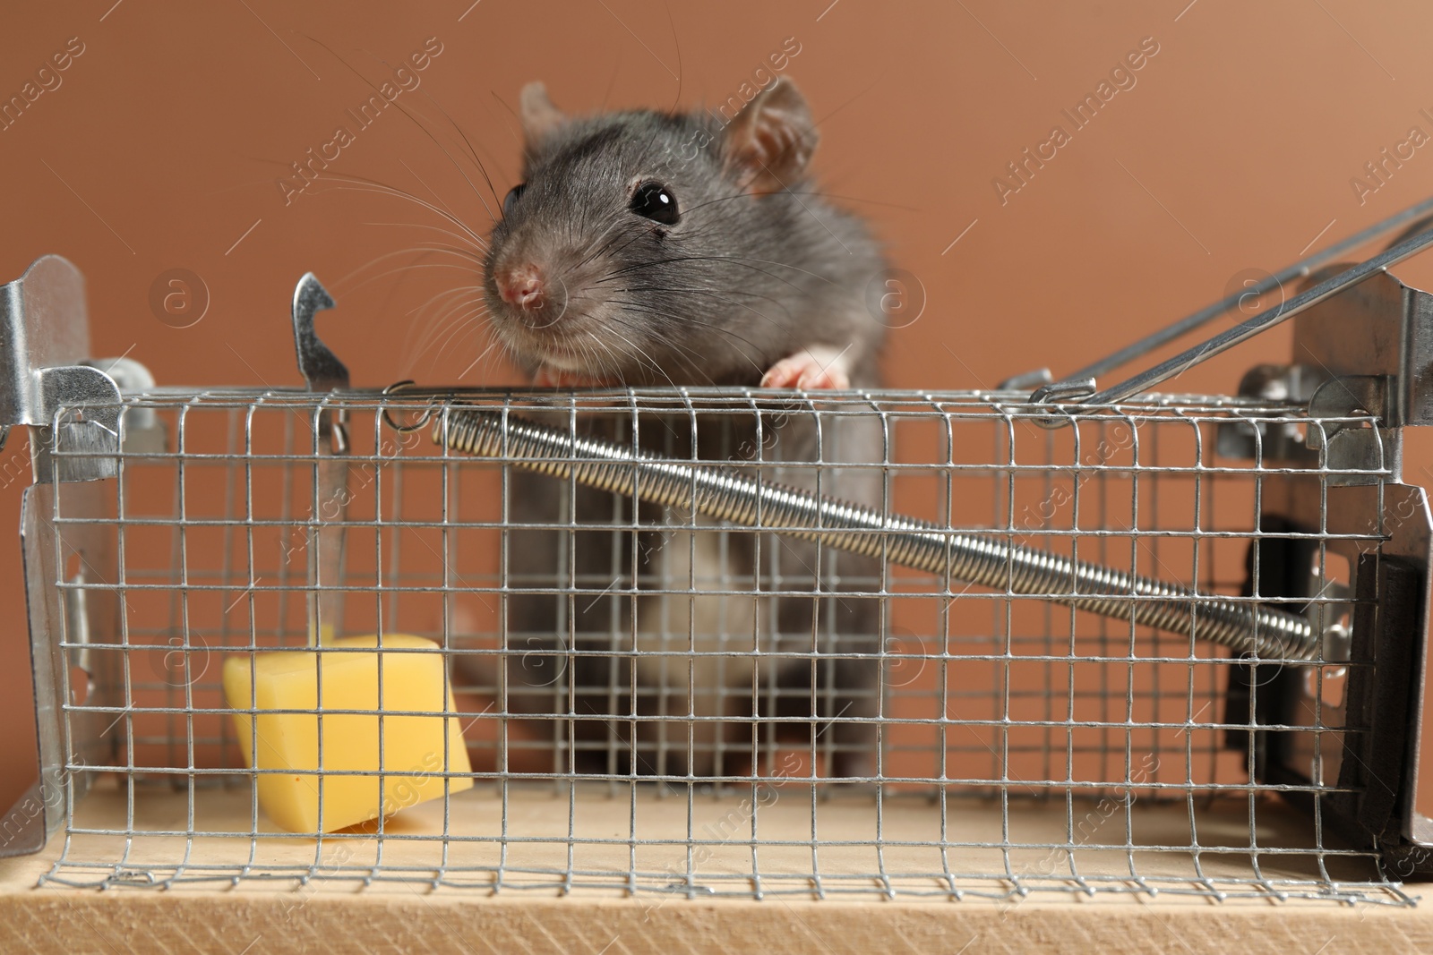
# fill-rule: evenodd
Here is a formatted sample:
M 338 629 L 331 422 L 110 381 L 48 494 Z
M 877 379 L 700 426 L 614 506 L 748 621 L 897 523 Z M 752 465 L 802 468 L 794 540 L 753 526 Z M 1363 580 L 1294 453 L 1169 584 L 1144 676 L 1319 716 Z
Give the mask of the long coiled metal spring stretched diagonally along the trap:
M 446 430 L 446 441 L 444 441 Z M 1078 561 L 995 534 L 939 524 L 758 481 L 734 468 L 694 465 L 602 438 L 570 435 L 496 411 L 461 409 L 433 424 L 433 441 L 454 451 L 502 457 L 612 494 L 695 510 L 827 547 L 887 560 L 937 577 L 1043 596 L 1069 607 L 1188 634 L 1265 660 L 1311 660 L 1320 653 L 1313 623 L 1248 601 L 1204 597 L 1151 577 Z

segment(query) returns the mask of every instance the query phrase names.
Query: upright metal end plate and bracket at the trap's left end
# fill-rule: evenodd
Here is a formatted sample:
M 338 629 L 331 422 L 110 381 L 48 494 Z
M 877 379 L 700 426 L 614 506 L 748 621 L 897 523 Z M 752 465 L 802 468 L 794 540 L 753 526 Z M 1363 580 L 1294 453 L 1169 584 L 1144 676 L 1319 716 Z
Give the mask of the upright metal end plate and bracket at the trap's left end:
M 0 430 L 26 425 L 34 445 L 34 485 L 24 493 L 20 535 L 37 737 L 37 782 L 9 816 L 20 829 L 4 832 L 0 856 L 43 848 L 63 822 L 66 800 L 80 799 L 89 785 L 80 767 L 109 765 L 113 749 L 99 710 L 73 714 L 67 724 L 62 716 L 66 694 L 77 689 L 72 679 L 93 683 L 102 694 L 93 703 L 106 706 L 112 700 L 103 694 L 115 684 L 106 654 L 90 654 L 85 644 L 115 640 L 116 604 L 107 587 L 118 574 L 103 530 L 112 520 L 110 498 L 93 481 L 116 471 L 122 408 L 119 385 L 86 365 L 89 358 L 85 278 L 75 265 L 47 255 L 0 286 Z M 89 454 L 56 455 L 56 448 Z M 85 481 L 63 488 L 66 517 L 77 520 L 59 527 L 57 495 L 70 481 Z M 83 573 L 66 573 L 72 558 Z M 59 586 L 62 574 L 66 588 Z M 86 588 L 86 581 L 100 587 Z M 62 640 L 80 649 L 67 656 Z

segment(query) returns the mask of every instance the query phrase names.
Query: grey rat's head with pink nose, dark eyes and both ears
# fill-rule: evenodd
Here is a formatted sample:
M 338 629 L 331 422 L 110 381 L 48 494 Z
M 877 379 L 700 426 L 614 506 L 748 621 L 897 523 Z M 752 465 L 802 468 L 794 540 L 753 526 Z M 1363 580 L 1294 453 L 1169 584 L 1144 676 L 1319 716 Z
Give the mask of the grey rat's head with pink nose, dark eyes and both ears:
M 547 381 L 759 379 L 787 346 L 782 296 L 800 294 L 771 262 L 815 146 L 795 86 L 778 80 L 722 122 L 567 117 L 530 83 L 522 123 L 523 182 L 483 276 L 517 364 Z

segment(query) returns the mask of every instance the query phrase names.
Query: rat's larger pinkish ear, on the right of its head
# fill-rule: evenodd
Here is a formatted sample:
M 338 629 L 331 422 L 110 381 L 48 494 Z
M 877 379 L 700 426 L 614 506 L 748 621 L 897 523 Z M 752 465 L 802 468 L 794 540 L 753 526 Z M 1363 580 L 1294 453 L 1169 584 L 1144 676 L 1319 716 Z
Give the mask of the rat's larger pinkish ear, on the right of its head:
M 805 97 L 782 77 L 757 93 L 722 130 L 722 156 L 752 192 L 777 192 L 801 178 L 815 140 Z

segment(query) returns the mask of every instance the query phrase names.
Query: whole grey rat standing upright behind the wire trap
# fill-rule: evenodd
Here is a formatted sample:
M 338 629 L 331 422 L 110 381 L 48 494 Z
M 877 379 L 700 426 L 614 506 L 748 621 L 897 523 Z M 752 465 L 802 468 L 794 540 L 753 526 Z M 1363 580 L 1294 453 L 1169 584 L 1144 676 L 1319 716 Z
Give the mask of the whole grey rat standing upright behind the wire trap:
M 542 83 L 519 112 L 522 182 L 483 288 L 496 339 L 535 385 L 880 384 L 884 324 L 866 289 L 887 265 L 864 222 L 813 190 L 817 129 L 791 80 L 729 120 L 567 116 Z M 540 414 L 633 438 L 631 414 Z M 642 411 L 638 442 L 759 460 L 761 480 L 811 490 L 817 468 L 781 462 L 821 461 L 823 494 L 880 507 L 877 415 L 792 399 L 764 412 L 759 437 L 755 417 Z M 519 468 L 507 485 L 500 696 L 547 717 L 572 772 L 749 773 L 758 740 L 778 739 L 815 747 L 833 776 L 874 772 L 881 603 L 850 594 L 880 591 L 877 563 L 646 504 L 633 515 L 631 500 Z

